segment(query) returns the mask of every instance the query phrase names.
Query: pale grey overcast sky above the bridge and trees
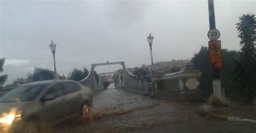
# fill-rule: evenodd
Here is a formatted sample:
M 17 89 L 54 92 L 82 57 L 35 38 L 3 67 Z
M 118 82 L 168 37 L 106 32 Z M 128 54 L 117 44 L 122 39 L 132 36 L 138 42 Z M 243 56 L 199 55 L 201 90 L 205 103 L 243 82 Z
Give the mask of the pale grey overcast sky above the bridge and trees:
M 0 1 L 0 56 L 6 58 L 6 84 L 34 67 L 53 69 L 51 39 L 57 44 L 60 75 L 106 61 L 125 61 L 129 68 L 150 64 L 146 39 L 150 32 L 155 62 L 188 59 L 208 45 L 207 0 Z M 239 50 L 235 24 L 242 14 L 256 12 L 255 1 L 215 0 L 214 6 L 222 47 Z

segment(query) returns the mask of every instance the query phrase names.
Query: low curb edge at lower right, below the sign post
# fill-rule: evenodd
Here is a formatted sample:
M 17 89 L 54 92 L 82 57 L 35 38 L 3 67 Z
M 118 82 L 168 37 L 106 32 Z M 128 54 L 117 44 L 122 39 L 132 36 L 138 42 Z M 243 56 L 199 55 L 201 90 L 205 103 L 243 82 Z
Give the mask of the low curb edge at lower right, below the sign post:
M 228 117 L 228 116 L 217 115 L 217 114 L 213 114 L 213 113 L 207 113 L 207 116 L 214 120 L 237 121 L 237 122 L 246 122 L 246 123 L 256 124 L 256 120 L 241 119 L 239 117 Z

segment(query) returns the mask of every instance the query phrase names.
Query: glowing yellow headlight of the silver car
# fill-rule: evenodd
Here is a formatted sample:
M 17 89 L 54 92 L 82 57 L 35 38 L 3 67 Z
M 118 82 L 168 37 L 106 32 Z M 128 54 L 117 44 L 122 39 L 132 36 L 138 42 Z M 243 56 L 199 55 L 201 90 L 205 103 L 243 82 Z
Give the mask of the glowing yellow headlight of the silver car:
M 9 113 L 3 113 L 0 117 L 2 124 L 11 124 L 14 120 L 21 120 L 21 113 L 16 112 L 16 109 L 11 109 Z

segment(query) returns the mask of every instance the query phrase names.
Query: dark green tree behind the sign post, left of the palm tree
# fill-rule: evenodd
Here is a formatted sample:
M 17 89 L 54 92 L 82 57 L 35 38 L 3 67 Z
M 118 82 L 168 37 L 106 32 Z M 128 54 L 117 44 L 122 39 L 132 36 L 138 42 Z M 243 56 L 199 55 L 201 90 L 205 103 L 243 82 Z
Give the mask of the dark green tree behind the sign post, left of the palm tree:
M 233 87 L 230 85 L 230 79 L 233 77 L 233 73 L 228 72 L 233 68 L 236 62 L 238 62 L 238 51 L 230 51 L 227 49 L 221 50 L 223 56 L 223 68 L 220 69 L 221 87 L 225 89 L 226 95 L 235 95 Z M 212 90 L 212 69 L 209 60 L 208 48 L 201 47 L 199 53 L 194 54 L 191 62 L 194 64 L 194 68 L 200 70 L 202 75 L 200 77 L 200 86 L 203 89 L 204 96 L 210 97 L 213 93 Z

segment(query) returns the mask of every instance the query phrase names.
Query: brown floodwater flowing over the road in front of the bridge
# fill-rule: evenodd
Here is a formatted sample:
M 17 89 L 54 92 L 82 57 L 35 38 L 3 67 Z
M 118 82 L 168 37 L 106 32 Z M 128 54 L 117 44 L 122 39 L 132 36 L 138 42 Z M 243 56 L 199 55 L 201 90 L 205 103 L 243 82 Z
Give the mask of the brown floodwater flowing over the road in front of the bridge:
M 87 119 L 63 123 L 54 132 L 125 132 L 197 119 L 196 105 L 170 103 L 109 88 L 93 99 Z

